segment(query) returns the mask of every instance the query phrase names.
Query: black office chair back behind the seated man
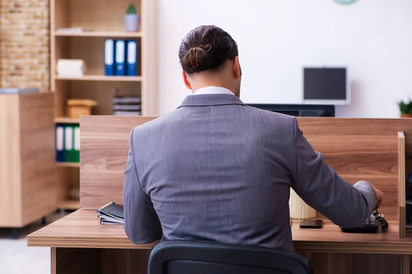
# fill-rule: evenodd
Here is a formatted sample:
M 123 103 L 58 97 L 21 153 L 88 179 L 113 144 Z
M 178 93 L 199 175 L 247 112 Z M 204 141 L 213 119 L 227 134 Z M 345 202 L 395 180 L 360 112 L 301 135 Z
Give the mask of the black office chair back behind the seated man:
M 167 240 L 150 253 L 148 274 L 312 274 L 298 253 L 264 247 Z

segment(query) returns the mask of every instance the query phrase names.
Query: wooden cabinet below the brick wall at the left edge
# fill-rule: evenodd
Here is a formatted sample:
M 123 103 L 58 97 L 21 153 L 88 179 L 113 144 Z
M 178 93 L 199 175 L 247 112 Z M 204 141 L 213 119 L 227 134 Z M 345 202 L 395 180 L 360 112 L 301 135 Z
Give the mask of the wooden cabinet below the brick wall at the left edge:
M 0 95 L 0 227 L 56 210 L 52 93 Z

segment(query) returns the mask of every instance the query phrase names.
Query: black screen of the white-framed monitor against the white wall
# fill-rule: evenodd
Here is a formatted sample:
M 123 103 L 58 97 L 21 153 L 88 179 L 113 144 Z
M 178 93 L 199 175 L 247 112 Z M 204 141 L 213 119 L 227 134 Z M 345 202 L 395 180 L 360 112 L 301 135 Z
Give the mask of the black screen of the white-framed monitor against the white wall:
M 346 100 L 346 69 L 305 68 L 304 99 Z

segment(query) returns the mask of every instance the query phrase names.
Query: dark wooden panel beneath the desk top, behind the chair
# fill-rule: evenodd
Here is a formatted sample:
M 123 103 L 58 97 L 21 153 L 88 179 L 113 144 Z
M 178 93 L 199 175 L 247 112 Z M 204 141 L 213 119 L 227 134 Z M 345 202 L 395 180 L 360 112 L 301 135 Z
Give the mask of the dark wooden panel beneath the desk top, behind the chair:
M 314 274 L 409 274 L 400 272 L 402 255 L 300 253 L 310 260 Z M 149 256 L 144 249 L 52 247 L 52 269 L 58 274 L 147 274 Z

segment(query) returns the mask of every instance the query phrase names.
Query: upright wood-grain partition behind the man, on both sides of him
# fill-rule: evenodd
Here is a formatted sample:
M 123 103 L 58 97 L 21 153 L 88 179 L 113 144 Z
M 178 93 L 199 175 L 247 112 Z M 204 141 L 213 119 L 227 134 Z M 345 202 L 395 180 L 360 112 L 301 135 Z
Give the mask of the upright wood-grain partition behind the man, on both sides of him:
M 82 116 L 80 204 L 122 203 L 128 140 L 133 127 L 156 117 Z M 365 179 L 385 192 L 381 212 L 398 220 L 398 132 L 412 136 L 412 119 L 299 118 L 314 149 L 348 182 Z M 412 153 L 412 142 L 406 142 Z

